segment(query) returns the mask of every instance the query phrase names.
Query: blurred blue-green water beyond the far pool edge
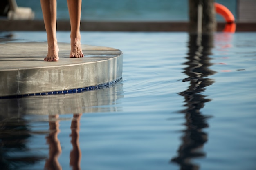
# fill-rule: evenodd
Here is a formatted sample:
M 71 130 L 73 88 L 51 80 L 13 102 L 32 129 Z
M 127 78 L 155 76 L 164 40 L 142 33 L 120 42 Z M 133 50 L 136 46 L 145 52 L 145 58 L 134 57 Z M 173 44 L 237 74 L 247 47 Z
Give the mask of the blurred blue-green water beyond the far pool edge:
M 16 0 L 18 6 L 30 7 L 35 19 L 43 19 L 38 0 Z M 216 0 L 236 18 L 236 0 Z M 81 20 L 93 21 L 188 21 L 188 0 L 82 0 Z M 57 19 L 68 20 L 66 0 L 57 0 Z M 217 16 L 219 21 L 224 21 Z

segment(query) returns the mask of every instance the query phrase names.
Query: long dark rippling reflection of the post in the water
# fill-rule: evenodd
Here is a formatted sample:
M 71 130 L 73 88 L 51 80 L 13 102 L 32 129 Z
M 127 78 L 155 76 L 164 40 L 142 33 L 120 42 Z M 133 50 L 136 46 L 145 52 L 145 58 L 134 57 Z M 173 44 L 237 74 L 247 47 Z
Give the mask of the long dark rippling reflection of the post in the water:
M 201 151 L 204 143 L 207 141 L 207 133 L 203 129 L 208 127 L 206 116 L 202 115 L 200 109 L 204 107 L 206 96 L 200 94 L 205 87 L 213 84 L 213 80 L 207 78 L 215 72 L 209 69 L 209 55 L 213 47 L 213 35 L 189 35 L 189 53 L 188 65 L 184 68 L 184 73 L 188 75 L 183 81 L 189 81 L 190 86 L 186 91 L 180 92 L 184 96 L 186 109 L 181 113 L 185 114 L 186 130 L 182 136 L 182 144 L 178 149 L 178 155 L 171 159 L 171 162 L 178 163 L 181 170 L 198 170 L 199 166 L 191 162 L 195 157 L 204 157 L 205 153 Z

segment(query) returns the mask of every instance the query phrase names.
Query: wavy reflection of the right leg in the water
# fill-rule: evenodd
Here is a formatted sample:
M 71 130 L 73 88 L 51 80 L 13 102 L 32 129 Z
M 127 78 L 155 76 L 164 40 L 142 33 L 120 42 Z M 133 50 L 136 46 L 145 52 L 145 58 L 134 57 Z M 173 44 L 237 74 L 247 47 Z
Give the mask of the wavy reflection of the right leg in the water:
M 70 151 L 70 166 L 73 170 L 80 170 L 81 150 L 79 147 L 79 127 L 82 114 L 74 114 L 71 122 L 71 143 L 73 150 Z

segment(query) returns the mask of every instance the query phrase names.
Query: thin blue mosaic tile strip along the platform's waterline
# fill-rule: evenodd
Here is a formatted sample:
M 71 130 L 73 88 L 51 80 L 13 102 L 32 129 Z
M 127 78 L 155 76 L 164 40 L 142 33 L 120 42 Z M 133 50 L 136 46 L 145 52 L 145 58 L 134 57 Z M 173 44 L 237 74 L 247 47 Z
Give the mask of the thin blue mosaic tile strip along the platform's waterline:
M 12 98 L 21 98 L 21 97 L 27 97 L 27 96 L 40 96 L 40 95 L 57 95 L 57 94 L 70 94 L 70 93 L 82 93 L 85 91 L 92 91 L 102 88 L 109 88 L 115 85 L 117 82 L 121 81 L 122 77 L 119 79 L 116 79 L 112 82 L 99 84 L 96 86 L 90 86 L 90 87 L 83 87 L 83 88 L 76 88 L 76 89 L 70 89 L 70 90 L 63 90 L 63 91 L 52 91 L 52 92 L 43 92 L 43 93 L 31 93 L 31 94 L 25 94 L 25 95 L 11 95 L 11 96 L 0 96 L 0 99 L 12 99 Z

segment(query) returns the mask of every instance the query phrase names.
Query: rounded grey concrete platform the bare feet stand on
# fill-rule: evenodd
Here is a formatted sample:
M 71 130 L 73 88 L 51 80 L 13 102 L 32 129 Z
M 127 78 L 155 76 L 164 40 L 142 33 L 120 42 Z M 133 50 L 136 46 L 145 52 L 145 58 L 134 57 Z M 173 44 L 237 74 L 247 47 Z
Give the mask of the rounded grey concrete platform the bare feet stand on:
M 45 62 L 46 42 L 0 44 L 0 99 L 76 93 L 115 83 L 122 76 L 118 49 L 82 45 L 83 58 L 69 58 L 70 44 L 58 43 L 59 61 Z

